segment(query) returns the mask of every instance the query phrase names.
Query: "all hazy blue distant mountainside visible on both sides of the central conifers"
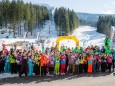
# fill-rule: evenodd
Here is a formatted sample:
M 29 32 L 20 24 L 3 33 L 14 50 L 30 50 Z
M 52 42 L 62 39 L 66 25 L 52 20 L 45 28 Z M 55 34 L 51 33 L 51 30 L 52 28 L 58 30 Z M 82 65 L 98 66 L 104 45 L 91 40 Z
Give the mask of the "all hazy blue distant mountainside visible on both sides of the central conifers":
M 50 16 L 54 15 L 54 11 L 56 7 L 52 7 L 48 4 L 41 4 L 41 5 L 49 9 Z M 109 15 L 109 14 L 91 14 L 91 13 L 82 13 L 82 12 L 77 12 L 76 14 L 79 18 L 80 25 L 89 25 L 89 26 L 94 26 L 94 27 L 97 27 L 96 24 L 97 24 L 99 16 Z M 112 16 L 115 16 L 115 14 L 113 14 Z

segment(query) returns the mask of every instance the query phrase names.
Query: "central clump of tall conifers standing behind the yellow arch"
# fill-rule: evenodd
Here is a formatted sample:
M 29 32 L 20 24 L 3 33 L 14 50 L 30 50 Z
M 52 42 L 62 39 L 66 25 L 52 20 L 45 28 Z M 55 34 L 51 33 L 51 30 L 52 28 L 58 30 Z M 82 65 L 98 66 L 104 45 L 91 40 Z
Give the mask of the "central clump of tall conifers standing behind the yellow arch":
M 54 22 L 59 35 L 71 34 L 79 25 L 76 13 L 64 7 L 55 9 Z

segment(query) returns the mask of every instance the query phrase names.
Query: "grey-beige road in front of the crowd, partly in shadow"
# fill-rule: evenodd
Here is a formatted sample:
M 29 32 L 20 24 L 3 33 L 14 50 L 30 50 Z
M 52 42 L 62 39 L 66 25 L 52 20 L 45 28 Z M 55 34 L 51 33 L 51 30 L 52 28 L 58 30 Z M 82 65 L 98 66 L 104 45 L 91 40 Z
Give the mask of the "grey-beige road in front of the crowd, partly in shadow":
M 1 86 L 115 86 L 113 74 L 85 74 L 54 77 L 22 77 L 0 80 Z

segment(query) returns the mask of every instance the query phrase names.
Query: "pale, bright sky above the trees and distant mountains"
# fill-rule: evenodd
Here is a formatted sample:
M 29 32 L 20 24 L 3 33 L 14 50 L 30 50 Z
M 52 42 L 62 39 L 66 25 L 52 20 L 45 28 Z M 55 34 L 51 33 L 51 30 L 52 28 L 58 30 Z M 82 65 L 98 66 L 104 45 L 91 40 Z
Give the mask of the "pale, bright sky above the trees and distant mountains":
M 67 7 L 76 12 L 115 14 L 115 0 L 23 0 L 53 7 Z

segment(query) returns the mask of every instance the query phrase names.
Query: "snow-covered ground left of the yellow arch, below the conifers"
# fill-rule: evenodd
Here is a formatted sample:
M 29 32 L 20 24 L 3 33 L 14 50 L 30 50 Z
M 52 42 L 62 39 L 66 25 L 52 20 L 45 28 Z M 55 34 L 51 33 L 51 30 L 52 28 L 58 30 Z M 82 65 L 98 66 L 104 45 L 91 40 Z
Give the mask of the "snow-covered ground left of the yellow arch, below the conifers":
M 24 28 L 22 28 L 24 29 Z M 5 30 L 2 29 L 0 31 L 3 31 Z M 22 30 L 23 31 L 23 30 Z M 45 25 L 43 26 L 43 28 L 35 28 L 35 30 L 33 30 L 33 35 L 30 36 L 29 34 L 27 34 L 27 37 L 25 39 L 25 41 L 28 41 L 30 43 L 36 43 L 36 40 L 37 40 L 37 36 L 36 34 L 39 32 L 39 39 L 42 39 L 42 40 L 46 40 L 45 41 L 45 44 L 44 46 L 45 47 L 51 47 L 52 45 L 52 42 L 55 41 L 55 39 L 57 38 L 57 34 L 58 32 L 55 30 L 55 25 L 52 24 L 51 21 L 46 21 Z M 24 32 L 22 32 L 24 33 Z M 6 39 L 6 36 L 9 36 L 9 33 L 4 33 L 4 34 L 0 34 L 0 49 L 2 49 L 1 45 L 2 43 L 5 43 L 5 44 L 12 44 L 14 42 L 17 42 L 17 41 L 24 41 L 23 37 L 18 37 L 18 38 L 7 38 Z M 12 36 L 12 35 L 10 35 Z M 51 41 L 50 41 L 51 40 Z M 11 47 L 8 47 L 8 49 L 10 49 Z

